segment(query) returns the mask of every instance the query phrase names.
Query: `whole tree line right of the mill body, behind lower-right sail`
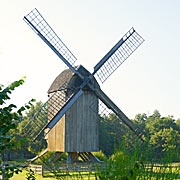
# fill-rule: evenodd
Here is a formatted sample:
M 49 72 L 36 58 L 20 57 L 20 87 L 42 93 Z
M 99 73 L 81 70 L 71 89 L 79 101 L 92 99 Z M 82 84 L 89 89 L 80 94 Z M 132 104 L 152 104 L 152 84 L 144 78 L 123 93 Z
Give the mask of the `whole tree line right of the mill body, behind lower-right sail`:
M 158 110 L 153 114 L 137 114 L 132 120 L 135 128 L 142 134 L 146 141 L 140 143 L 140 148 L 144 152 L 149 150 L 149 156 L 158 161 L 169 151 L 180 153 L 180 120 L 175 120 L 173 116 L 162 117 Z M 135 136 L 131 131 L 126 131 L 125 125 L 114 114 L 102 117 L 100 120 L 100 149 L 106 155 L 113 154 L 114 147 L 119 147 L 124 141 L 129 150 L 134 147 Z M 178 161 L 177 157 L 174 160 Z

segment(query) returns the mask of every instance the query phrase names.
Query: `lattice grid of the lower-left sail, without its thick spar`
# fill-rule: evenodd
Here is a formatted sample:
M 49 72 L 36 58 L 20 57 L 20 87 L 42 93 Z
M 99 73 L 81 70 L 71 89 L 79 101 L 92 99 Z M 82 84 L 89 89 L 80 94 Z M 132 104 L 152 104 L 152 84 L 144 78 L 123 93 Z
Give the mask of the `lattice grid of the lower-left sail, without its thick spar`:
M 68 96 L 67 96 L 68 91 Z M 70 93 L 69 93 L 70 92 Z M 34 141 L 39 134 L 44 131 L 45 137 L 49 129 L 45 130 L 44 127 L 55 117 L 60 109 L 67 103 L 67 101 L 73 96 L 74 91 L 67 88 L 67 82 L 65 82 L 57 91 L 52 93 L 51 97 L 46 103 L 41 106 L 39 111 L 31 118 L 28 124 L 25 126 L 24 132 L 26 135 Z

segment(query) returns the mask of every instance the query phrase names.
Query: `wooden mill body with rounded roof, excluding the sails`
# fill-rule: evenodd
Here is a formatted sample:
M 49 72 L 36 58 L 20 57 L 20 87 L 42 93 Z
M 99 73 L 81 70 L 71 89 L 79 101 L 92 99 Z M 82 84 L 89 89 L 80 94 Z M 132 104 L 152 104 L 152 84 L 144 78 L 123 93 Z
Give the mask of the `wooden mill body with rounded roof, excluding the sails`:
M 84 76 L 90 74 L 83 66 L 79 66 L 77 70 Z M 64 89 L 59 89 L 65 82 Z M 81 83 L 82 80 L 76 74 L 66 69 L 54 80 L 48 94 L 51 96 L 59 91 L 59 93 L 65 93 L 66 98 L 73 91 L 77 91 Z M 95 78 L 91 80 L 91 84 L 94 88 L 99 87 Z M 99 151 L 98 98 L 87 86 L 83 88 L 83 91 L 83 95 L 49 132 L 47 136 L 49 151 Z M 95 107 L 96 112 L 89 108 L 91 104 Z

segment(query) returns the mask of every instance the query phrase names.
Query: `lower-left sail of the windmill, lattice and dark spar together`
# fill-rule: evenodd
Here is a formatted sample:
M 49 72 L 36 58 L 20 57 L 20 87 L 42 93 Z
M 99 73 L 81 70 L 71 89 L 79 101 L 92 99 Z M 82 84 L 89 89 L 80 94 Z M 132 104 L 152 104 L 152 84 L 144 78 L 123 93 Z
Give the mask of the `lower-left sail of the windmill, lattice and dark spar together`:
M 63 85 L 63 87 L 65 86 Z M 32 141 L 38 137 L 46 136 L 83 93 L 82 90 L 79 90 L 67 97 L 63 87 L 54 92 L 25 126 L 24 132 Z

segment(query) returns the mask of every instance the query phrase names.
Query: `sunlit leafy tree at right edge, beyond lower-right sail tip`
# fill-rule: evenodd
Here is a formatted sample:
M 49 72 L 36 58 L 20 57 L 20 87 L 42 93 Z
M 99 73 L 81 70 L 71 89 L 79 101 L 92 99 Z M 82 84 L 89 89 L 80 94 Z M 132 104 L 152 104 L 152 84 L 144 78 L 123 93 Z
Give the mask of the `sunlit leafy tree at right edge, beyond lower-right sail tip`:
M 138 114 L 134 122 L 137 129 L 142 129 L 146 146 L 144 149 L 151 149 L 152 158 L 158 159 L 169 151 L 179 151 L 180 128 L 173 116 L 162 117 L 158 110 L 143 121 L 143 116 Z M 143 150 L 143 149 L 142 149 Z

